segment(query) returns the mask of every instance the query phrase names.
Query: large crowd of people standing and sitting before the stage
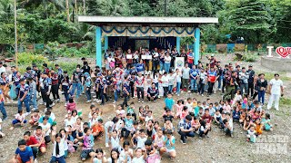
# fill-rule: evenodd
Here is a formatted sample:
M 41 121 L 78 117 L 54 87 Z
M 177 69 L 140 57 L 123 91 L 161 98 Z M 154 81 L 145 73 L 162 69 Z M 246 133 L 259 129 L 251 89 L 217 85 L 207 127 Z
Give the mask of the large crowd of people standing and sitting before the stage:
M 128 54 L 133 56 L 127 59 Z M 142 55 L 152 55 L 152 60 L 143 60 Z M 175 69 L 176 57 L 185 57 L 182 69 Z M 155 48 L 152 52 L 140 49 L 123 53 L 118 48 L 106 51 L 105 70 L 98 66 L 92 70 L 82 58 L 83 65 L 77 65 L 71 76 L 58 64 L 49 69 L 46 63 L 43 70 L 36 64 L 28 66 L 24 74 L 11 66 L 8 75 L 0 62 L 3 113 L 0 136 L 5 137 L 1 123 L 11 123 L 10 129 L 15 125 L 30 125 L 33 129 L 25 131 L 18 141 L 11 161 L 32 163 L 39 153 L 46 154 L 47 148 L 52 148 L 53 153 L 47 154 L 52 156 L 50 162 L 63 163 L 69 153 L 75 152 L 79 152 L 82 161 L 91 158 L 95 163 L 159 162 L 166 154 L 176 158 L 175 132 L 183 144 L 189 137 L 209 137 L 214 126 L 232 137 L 234 122 L 246 131 L 247 141 L 256 142 L 264 129 L 273 129 L 270 114 L 264 109 L 270 110 L 275 101 L 275 109 L 279 110 L 279 98 L 284 91 L 279 74 L 267 82 L 264 73 L 256 74 L 252 65 L 248 68 L 237 63 L 222 66 L 214 55 L 207 59 L 209 62 L 196 65 L 191 50 L 178 53 L 176 49 L 158 51 Z M 208 97 L 218 91 L 223 96 L 217 101 L 208 97 L 197 101 L 196 97 L 204 96 L 205 91 Z M 192 98 L 180 98 L 182 92 Z M 270 97 L 265 107 L 266 92 Z M 83 93 L 85 102 L 91 103 L 88 116 L 76 104 L 76 101 L 82 102 L 79 97 Z M 178 101 L 174 101 L 174 95 Z M 38 96 L 42 102 L 37 101 Z M 54 114 L 55 103 L 61 99 L 65 99 L 65 119 Z M 164 110 L 144 104 L 135 109 L 136 102 L 161 102 L 159 99 L 165 102 Z M 4 103 L 13 100 L 18 101 L 18 112 L 15 120 L 9 122 Z M 110 101 L 115 106 L 114 118 L 105 121 L 103 109 L 98 105 Z M 45 115 L 40 113 L 42 104 Z M 154 110 L 163 110 L 162 116 L 154 117 Z M 56 129 L 56 118 L 64 121 L 61 129 Z M 107 155 L 105 149 L 95 149 L 104 137 L 105 148 L 110 149 Z

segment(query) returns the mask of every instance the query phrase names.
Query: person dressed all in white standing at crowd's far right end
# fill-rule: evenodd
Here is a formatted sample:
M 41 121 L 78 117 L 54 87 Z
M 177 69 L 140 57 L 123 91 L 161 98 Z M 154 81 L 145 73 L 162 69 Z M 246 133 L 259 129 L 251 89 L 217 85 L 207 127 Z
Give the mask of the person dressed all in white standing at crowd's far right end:
M 279 79 L 279 74 L 275 73 L 275 79 L 272 79 L 269 83 L 270 97 L 267 103 L 267 109 L 270 110 L 275 101 L 275 109 L 279 110 L 280 96 L 283 96 L 283 82 Z

